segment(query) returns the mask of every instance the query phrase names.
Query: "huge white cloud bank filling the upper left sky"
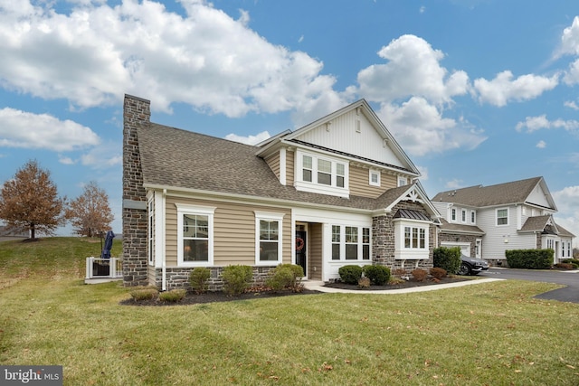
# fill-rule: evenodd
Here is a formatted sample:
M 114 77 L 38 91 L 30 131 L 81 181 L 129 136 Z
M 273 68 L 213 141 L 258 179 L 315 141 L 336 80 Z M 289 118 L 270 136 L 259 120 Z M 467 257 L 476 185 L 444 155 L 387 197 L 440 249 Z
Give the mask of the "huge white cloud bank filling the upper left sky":
M 320 75 L 321 61 L 249 29 L 244 11 L 233 20 L 200 1 L 182 1 L 185 16 L 152 1 L 79 0 L 69 14 L 9 3 L 0 13 L 3 87 L 72 108 L 119 103 L 128 92 L 164 111 L 183 102 L 242 117 L 298 109 L 336 81 Z

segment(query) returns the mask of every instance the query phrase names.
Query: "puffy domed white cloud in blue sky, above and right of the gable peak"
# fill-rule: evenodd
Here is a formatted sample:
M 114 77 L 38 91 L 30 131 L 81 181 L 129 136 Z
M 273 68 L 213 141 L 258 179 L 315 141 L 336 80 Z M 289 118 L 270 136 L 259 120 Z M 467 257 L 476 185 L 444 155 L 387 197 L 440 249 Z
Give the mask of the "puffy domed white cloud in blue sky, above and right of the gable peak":
M 417 36 L 394 39 L 378 56 L 387 62 L 358 72 L 359 93 L 365 99 L 391 102 L 414 96 L 438 105 L 469 90 L 467 73 L 454 71 L 449 75 L 440 64 L 444 54 Z

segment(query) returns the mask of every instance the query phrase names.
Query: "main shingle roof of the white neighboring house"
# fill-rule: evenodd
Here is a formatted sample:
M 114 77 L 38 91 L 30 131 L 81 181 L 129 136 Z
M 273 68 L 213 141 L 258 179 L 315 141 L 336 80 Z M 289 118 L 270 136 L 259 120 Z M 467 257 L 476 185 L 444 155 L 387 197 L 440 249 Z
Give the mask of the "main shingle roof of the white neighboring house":
M 432 202 L 455 202 L 472 207 L 485 207 L 515 202 L 525 202 L 542 177 L 491 186 L 470 186 L 437 193 Z

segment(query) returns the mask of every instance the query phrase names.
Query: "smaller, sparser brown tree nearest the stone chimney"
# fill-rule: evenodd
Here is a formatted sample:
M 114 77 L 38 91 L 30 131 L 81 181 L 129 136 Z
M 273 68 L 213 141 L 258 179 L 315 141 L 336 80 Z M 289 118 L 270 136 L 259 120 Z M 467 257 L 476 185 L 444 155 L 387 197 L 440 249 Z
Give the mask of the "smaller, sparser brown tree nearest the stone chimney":
M 109 207 L 109 195 L 94 181 L 84 186 L 82 194 L 66 209 L 65 216 L 74 231 L 82 236 L 101 236 L 115 219 Z

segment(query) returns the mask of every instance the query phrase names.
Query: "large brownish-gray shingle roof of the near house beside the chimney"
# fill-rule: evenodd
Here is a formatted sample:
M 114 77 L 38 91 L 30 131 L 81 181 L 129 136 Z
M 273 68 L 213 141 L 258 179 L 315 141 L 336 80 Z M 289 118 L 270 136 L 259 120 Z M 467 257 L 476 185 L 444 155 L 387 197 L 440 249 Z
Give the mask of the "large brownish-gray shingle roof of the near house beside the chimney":
M 150 123 L 138 130 L 143 181 L 208 193 L 231 193 L 263 199 L 310 202 L 376 210 L 394 202 L 408 186 L 394 188 L 377 199 L 350 195 L 341 198 L 299 192 L 282 185 L 269 165 L 256 155 L 260 148 Z

